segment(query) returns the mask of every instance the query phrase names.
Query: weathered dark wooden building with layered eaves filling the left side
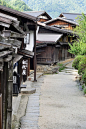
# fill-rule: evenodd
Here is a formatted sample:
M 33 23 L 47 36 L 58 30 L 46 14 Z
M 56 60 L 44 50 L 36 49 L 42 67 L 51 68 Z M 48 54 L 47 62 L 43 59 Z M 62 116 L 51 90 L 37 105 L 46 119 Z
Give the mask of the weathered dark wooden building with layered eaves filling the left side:
M 30 67 L 36 81 L 36 22 L 33 16 L 0 5 L 1 129 L 11 129 L 12 91 L 19 91 Z

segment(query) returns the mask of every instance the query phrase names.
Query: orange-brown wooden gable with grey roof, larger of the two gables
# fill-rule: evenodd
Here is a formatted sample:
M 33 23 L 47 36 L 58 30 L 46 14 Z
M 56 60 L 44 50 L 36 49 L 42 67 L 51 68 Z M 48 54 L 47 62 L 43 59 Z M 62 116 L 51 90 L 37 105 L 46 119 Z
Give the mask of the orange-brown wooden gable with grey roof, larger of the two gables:
M 51 19 L 45 22 L 45 24 L 49 26 L 55 26 L 61 29 L 69 29 L 69 30 L 73 30 L 76 26 L 78 26 L 78 23 L 76 23 L 75 21 L 68 20 L 63 17 L 57 17 L 55 19 Z

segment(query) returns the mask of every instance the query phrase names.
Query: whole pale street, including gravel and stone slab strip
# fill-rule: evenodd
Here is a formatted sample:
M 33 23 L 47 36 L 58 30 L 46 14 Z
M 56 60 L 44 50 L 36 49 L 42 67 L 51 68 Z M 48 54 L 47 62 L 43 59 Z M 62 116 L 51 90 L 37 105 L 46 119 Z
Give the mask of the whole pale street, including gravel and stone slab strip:
M 71 63 L 59 74 L 41 76 L 29 96 L 21 129 L 86 129 L 86 97 Z

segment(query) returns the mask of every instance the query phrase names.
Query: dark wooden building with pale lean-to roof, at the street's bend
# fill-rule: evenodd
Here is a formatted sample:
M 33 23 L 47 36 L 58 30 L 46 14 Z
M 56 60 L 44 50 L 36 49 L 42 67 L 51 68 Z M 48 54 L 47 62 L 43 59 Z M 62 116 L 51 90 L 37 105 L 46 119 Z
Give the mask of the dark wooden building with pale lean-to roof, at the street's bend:
M 37 29 L 37 63 L 55 64 L 72 57 L 68 52 L 69 45 L 76 38 L 71 30 L 64 30 L 38 23 Z

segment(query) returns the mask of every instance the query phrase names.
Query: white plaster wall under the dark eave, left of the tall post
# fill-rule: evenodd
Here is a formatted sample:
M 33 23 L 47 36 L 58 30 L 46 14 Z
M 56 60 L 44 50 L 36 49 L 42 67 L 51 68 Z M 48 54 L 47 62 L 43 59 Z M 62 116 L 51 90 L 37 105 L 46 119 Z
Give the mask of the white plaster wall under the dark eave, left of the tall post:
M 30 43 L 26 44 L 26 50 L 33 51 L 34 47 L 34 31 L 30 31 Z

